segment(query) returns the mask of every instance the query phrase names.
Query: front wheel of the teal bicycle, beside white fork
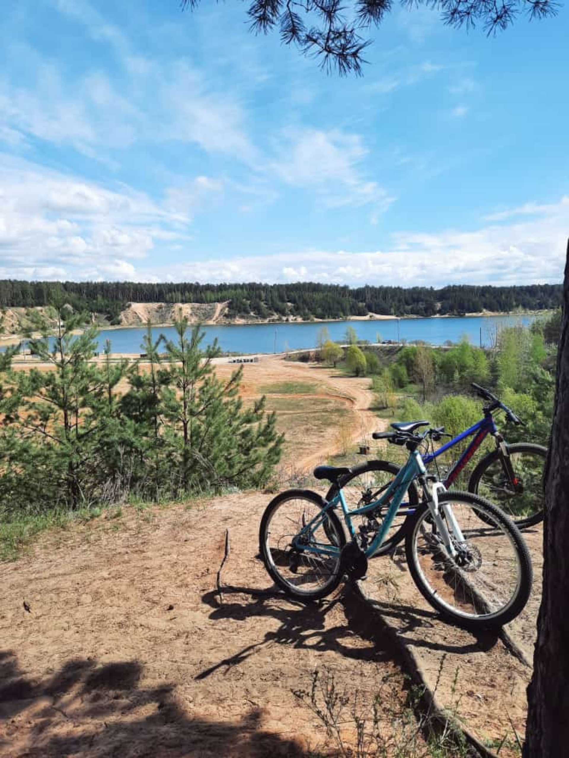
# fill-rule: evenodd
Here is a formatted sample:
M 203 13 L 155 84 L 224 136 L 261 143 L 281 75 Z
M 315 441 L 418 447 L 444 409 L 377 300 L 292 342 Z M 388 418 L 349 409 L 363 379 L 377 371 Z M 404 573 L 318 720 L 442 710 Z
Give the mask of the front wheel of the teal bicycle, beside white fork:
M 441 507 L 456 554 L 450 556 L 429 509 L 421 509 L 407 534 L 407 563 L 423 597 L 446 619 L 472 629 L 500 628 L 527 603 L 532 586 L 530 553 L 520 531 L 488 500 L 445 492 L 463 540 L 457 540 Z

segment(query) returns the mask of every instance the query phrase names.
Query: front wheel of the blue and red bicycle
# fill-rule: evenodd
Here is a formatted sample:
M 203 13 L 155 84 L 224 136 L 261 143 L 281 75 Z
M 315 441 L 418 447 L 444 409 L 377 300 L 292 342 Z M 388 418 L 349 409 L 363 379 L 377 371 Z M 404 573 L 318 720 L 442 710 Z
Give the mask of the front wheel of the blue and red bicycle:
M 514 481 L 505 469 L 499 450 L 494 450 L 474 469 L 468 490 L 491 500 L 519 528 L 539 524 L 543 521 L 545 503 L 543 476 L 547 448 L 520 442 L 508 445 L 508 456 Z

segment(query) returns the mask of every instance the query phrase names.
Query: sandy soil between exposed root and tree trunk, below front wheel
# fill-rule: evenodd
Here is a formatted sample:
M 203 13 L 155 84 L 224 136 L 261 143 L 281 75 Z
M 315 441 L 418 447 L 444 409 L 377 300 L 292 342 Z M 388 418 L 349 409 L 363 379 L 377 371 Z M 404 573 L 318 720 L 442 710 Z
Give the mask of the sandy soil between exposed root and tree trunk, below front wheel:
M 497 747 L 506 737 L 500 756 L 518 755 L 514 728 L 525 733 L 541 602 L 541 525 L 523 534 L 532 556 L 533 590 L 523 612 L 499 636 L 473 634 L 439 619 L 413 584 L 401 547 L 373 559 L 360 582 L 382 621 L 417 661 L 439 704 L 485 744 Z

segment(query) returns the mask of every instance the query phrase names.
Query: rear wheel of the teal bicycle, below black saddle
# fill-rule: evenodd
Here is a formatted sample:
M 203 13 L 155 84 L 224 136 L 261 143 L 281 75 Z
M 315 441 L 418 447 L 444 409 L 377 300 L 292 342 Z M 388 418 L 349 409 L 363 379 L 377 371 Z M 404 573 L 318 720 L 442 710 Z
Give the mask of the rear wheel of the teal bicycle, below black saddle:
M 324 505 L 310 490 L 287 490 L 271 500 L 261 519 L 259 551 L 265 568 L 275 584 L 298 600 L 329 595 L 342 577 L 344 530 L 334 512 L 322 515 Z

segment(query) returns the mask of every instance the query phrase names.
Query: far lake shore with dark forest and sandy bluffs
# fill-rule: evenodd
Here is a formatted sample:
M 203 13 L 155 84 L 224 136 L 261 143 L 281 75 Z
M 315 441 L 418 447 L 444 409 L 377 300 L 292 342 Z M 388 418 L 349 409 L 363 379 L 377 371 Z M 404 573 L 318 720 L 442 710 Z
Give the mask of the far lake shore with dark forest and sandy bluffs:
M 561 305 L 561 284 L 511 287 L 344 287 L 338 284 L 200 284 L 0 280 L 0 337 L 56 325 L 63 305 L 82 327 L 204 326 L 384 321 L 543 312 Z M 42 326 L 39 327 L 39 323 Z

